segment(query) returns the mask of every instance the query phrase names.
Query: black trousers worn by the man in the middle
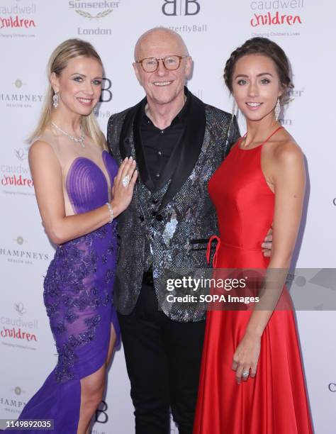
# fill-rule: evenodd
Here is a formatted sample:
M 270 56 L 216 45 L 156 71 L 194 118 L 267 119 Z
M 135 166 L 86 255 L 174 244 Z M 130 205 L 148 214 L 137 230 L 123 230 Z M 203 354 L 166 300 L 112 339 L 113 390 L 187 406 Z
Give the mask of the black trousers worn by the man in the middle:
M 136 434 L 192 434 L 205 321 L 178 323 L 159 311 L 152 282 L 144 279 L 130 315 L 118 315 Z

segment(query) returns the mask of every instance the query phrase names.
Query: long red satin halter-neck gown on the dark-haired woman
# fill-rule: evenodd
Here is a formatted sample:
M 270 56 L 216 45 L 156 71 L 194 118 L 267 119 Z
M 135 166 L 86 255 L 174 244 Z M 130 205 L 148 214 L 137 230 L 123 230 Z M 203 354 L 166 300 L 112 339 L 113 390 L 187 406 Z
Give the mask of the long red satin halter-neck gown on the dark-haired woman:
M 274 193 L 262 173 L 264 143 L 249 150 L 237 143 L 208 184 L 220 230 L 215 268 L 269 264 L 261 244 L 273 221 Z M 289 303 L 285 288 L 279 304 Z M 208 311 L 194 434 L 313 433 L 290 308 L 275 309 L 264 330 L 256 377 L 236 383 L 233 354 L 251 313 Z

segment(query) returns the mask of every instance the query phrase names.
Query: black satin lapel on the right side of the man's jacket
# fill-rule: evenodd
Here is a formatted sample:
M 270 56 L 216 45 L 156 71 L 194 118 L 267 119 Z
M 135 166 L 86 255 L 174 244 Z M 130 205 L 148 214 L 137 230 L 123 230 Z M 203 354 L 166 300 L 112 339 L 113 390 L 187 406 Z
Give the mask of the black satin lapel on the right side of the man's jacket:
M 206 131 L 206 106 L 193 94 L 190 96 L 191 106 L 189 116 L 178 145 L 179 161 L 159 209 L 164 208 L 181 189 L 193 171 L 202 149 L 204 133 Z

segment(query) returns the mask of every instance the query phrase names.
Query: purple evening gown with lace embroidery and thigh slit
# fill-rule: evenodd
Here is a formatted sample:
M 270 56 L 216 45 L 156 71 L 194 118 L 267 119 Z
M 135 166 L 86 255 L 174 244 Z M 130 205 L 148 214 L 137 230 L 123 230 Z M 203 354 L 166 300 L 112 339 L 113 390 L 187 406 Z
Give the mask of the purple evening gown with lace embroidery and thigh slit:
M 110 183 L 118 166 L 102 153 Z M 108 201 L 106 176 L 95 162 L 77 157 L 66 177 L 69 201 L 75 213 L 84 213 Z M 20 419 L 54 419 L 54 430 L 22 433 L 76 434 L 81 398 L 80 379 L 96 372 L 106 360 L 111 323 L 120 341 L 113 306 L 116 269 L 116 221 L 57 247 L 44 281 L 44 301 L 55 338 L 57 366 L 26 404 Z M 21 431 L 16 431 L 18 433 Z

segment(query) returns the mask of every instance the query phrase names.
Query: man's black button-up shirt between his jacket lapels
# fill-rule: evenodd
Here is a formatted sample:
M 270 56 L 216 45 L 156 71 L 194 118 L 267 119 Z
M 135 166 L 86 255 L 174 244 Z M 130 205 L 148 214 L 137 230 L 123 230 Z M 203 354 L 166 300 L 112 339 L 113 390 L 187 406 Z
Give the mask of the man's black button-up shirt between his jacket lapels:
M 186 126 L 190 96 L 187 94 L 186 102 L 181 111 L 175 116 L 170 126 L 164 130 L 157 128 L 148 118 L 145 113 L 145 104 L 142 106 L 140 133 L 147 169 L 156 187 Z

